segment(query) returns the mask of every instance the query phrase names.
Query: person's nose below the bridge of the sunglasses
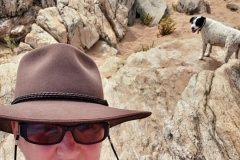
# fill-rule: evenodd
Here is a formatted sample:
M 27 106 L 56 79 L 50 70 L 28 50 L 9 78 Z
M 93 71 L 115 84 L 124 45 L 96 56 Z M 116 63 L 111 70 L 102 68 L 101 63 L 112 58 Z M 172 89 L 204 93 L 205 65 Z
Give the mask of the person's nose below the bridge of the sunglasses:
M 67 131 L 62 141 L 57 144 L 57 153 L 64 157 L 76 157 L 79 152 L 79 145 L 75 142 L 70 131 Z

